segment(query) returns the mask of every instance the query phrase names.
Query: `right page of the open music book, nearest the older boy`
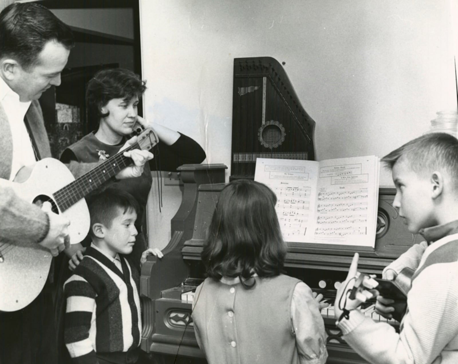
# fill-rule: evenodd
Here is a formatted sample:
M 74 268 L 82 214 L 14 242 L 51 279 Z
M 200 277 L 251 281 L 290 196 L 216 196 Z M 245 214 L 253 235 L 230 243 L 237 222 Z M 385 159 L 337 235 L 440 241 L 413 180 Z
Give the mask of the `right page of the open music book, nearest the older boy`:
M 320 162 L 316 243 L 375 247 L 379 164 L 375 156 Z

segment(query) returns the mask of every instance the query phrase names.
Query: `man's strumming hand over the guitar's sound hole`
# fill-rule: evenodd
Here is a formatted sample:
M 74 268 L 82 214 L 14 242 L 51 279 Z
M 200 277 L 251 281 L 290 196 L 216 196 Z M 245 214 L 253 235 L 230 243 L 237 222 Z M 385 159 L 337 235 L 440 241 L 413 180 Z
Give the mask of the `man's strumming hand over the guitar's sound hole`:
M 62 250 L 70 246 L 70 237 L 68 236 L 70 220 L 52 212 L 51 204 L 48 201 L 43 202 L 42 210 L 49 216 L 49 231 L 40 245 L 49 249 L 53 256 L 57 256 Z

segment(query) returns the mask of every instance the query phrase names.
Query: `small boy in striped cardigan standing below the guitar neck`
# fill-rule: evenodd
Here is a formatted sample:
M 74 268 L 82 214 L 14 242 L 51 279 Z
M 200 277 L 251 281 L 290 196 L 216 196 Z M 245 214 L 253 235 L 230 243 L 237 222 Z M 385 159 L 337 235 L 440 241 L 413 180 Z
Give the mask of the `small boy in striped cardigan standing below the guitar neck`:
M 135 244 L 138 204 L 107 188 L 89 204 L 92 244 L 64 284 L 65 345 L 75 364 L 136 363 L 142 332 Z M 158 249 L 143 252 L 163 256 Z

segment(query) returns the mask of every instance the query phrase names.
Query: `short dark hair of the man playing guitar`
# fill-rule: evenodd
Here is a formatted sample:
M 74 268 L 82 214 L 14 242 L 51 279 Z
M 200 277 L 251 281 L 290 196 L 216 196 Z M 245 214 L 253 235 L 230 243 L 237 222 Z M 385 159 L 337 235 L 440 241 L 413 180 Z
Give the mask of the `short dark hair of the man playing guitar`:
M 0 13 L 0 59 L 11 57 L 28 70 L 49 41 L 71 49 L 75 39 L 64 22 L 36 3 L 13 3 Z

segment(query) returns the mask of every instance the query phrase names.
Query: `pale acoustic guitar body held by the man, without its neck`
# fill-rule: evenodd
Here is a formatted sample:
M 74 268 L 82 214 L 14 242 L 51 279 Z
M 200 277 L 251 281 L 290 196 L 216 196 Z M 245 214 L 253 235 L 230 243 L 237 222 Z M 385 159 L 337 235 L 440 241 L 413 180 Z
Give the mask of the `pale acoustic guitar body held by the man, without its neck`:
M 44 158 L 38 161 L 31 171 L 26 167 L 22 168 L 16 175 L 15 182 L 2 179 L 0 185 L 11 187 L 19 197 L 30 203 L 35 203 L 37 199 L 47 201 L 49 198 L 58 213 L 71 221 L 68 227 L 70 243 L 76 244 L 89 232 L 90 218 L 86 201 L 81 199 L 61 212 L 53 199 L 55 191 L 74 180 L 65 164 L 57 159 Z M 21 310 L 43 289 L 48 278 L 52 255 L 39 244 L 21 242 L 1 244 L 0 252 L 4 257 L 4 261 L 0 263 L 0 310 Z

